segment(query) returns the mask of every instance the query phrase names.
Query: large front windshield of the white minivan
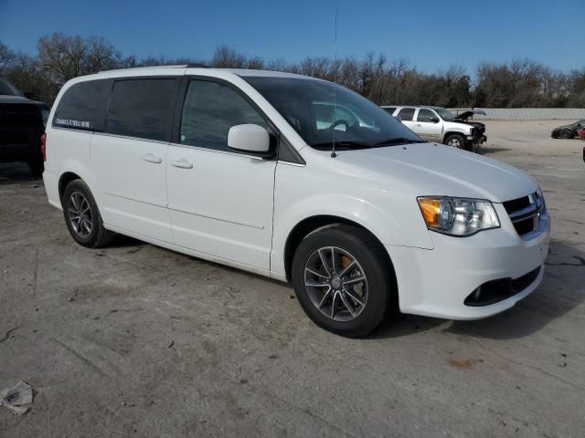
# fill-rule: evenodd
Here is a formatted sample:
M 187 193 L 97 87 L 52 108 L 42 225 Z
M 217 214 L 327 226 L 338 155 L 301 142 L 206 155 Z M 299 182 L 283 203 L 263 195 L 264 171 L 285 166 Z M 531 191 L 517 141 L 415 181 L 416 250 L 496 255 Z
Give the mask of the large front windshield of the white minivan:
M 422 143 L 378 105 L 324 80 L 243 77 L 315 149 L 362 149 Z M 334 131 L 335 130 L 335 131 Z

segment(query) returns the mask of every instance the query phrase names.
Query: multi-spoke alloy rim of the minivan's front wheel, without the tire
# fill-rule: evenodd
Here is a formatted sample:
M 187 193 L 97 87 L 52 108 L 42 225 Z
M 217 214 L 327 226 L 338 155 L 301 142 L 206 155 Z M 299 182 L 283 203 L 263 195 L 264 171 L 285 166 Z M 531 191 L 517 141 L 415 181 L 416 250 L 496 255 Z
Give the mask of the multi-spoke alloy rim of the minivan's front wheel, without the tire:
M 367 305 L 367 278 L 356 257 L 335 246 L 316 250 L 304 266 L 314 307 L 335 321 L 357 318 Z

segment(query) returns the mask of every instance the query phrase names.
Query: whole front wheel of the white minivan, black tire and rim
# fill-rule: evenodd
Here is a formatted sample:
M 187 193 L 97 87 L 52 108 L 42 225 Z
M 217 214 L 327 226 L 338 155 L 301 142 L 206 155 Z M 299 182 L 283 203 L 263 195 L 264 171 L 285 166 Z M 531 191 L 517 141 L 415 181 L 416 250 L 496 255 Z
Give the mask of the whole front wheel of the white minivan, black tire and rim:
M 307 235 L 294 253 L 292 273 L 294 292 L 307 316 L 341 336 L 366 336 L 395 302 L 386 250 L 356 226 L 337 224 Z

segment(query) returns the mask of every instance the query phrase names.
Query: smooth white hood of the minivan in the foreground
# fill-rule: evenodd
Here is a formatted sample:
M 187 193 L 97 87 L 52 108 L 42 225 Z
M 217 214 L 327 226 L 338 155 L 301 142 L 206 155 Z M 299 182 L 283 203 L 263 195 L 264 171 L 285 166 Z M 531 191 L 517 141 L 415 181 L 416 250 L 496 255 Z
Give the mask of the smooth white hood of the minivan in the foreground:
M 438 143 L 339 151 L 335 160 L 344 162 L 346 176 L 413 197 L 443 195 L 503 203 L 538 188 L 526 172 L 504 162 Z

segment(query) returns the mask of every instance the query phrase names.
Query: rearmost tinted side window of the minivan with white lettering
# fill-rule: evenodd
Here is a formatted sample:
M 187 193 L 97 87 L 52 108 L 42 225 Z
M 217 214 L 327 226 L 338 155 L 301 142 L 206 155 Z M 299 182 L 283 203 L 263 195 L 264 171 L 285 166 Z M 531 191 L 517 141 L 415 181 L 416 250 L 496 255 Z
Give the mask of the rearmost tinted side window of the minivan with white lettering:
M 53 126 L 77 130 L 101 130 L 103 108 L 110 94 L 107 79 L 90 80 L 72 85 L 58 101 Z

